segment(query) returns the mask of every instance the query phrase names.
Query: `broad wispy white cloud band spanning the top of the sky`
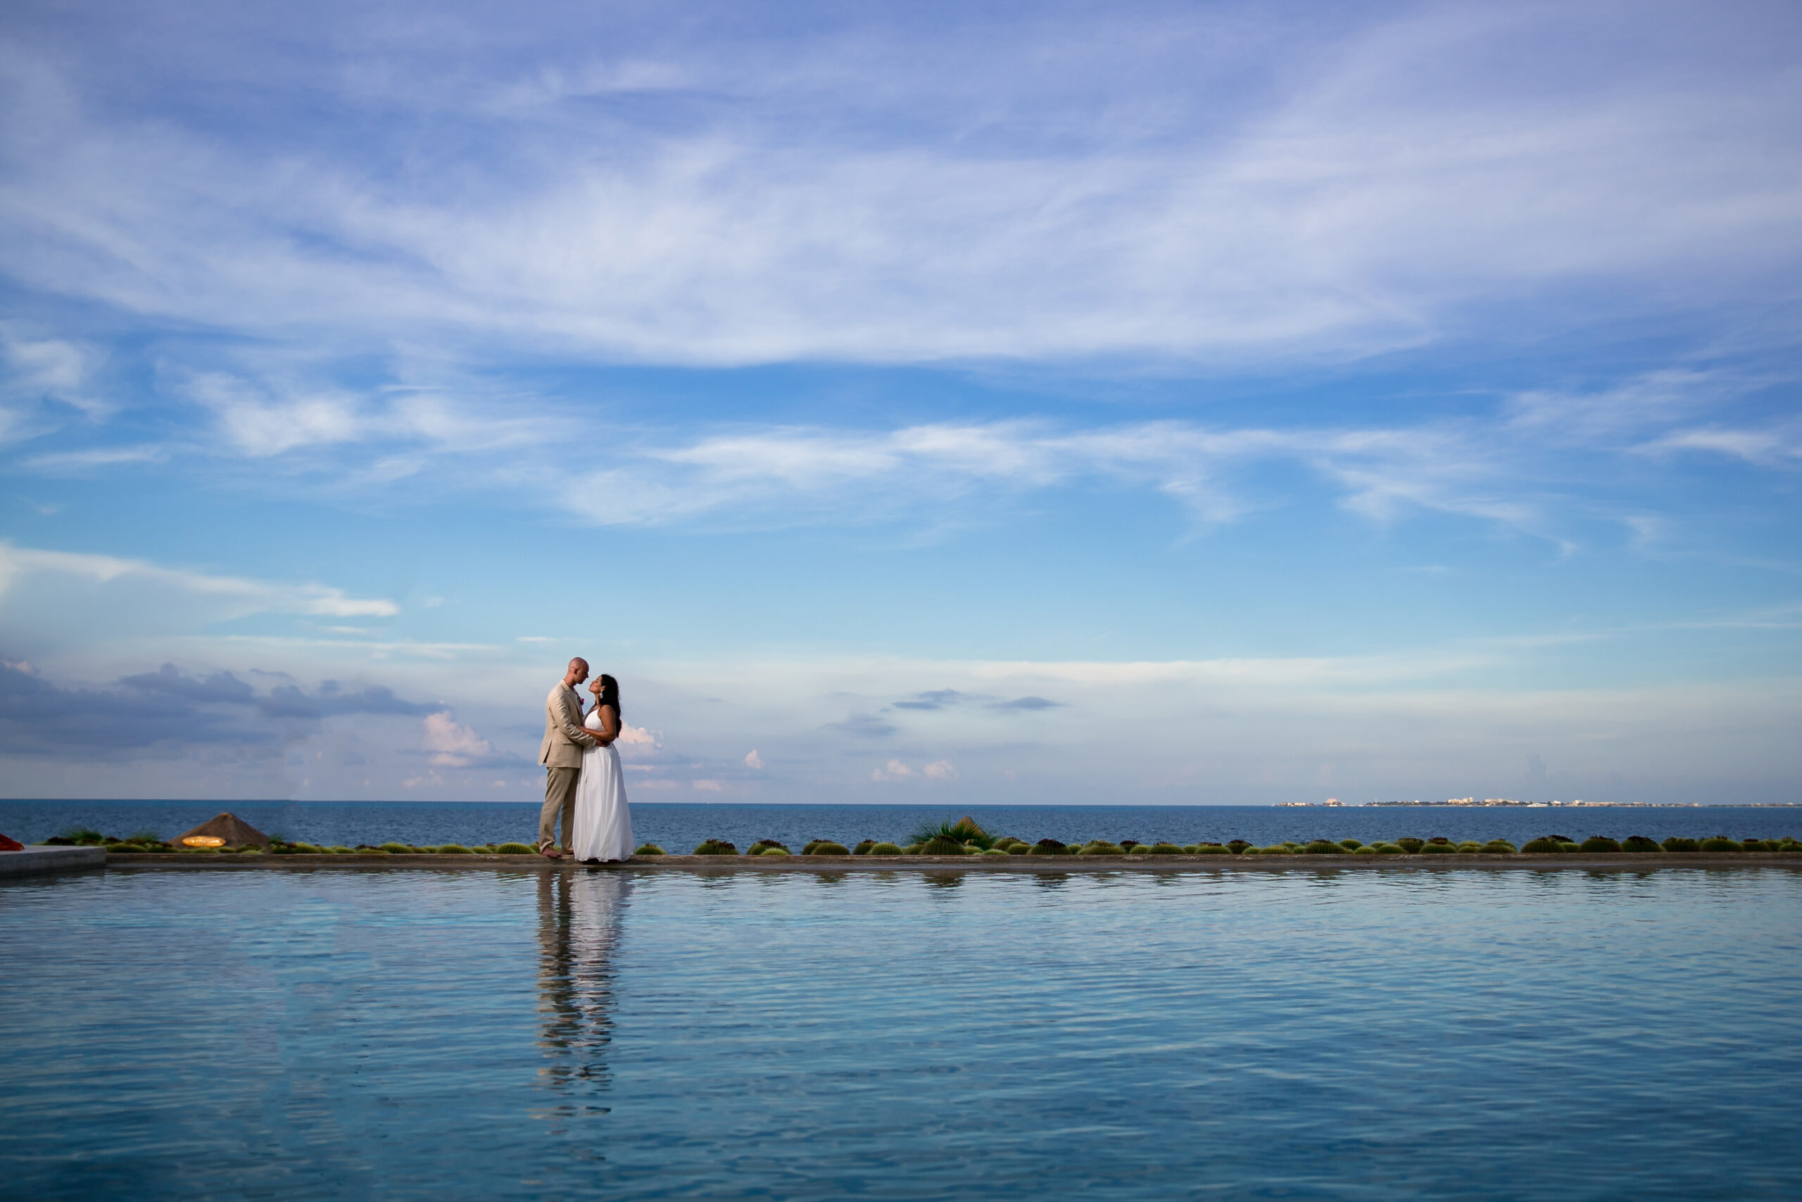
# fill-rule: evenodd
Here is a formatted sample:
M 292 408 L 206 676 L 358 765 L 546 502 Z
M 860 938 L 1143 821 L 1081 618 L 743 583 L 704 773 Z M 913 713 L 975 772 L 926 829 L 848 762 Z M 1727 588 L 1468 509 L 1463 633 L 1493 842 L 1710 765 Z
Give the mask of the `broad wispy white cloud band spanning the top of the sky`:
M 609 27 L 582 50 L 564 22 L 532 43 L 467 11 L 405 50 L 369 29 L 393 47 L 380 65 L 341 49 L 360 36 L 296 31 L 258 96 L 342 112 L 344 137 L 317 141 L 238 137 L 173 97 L 135 117 L 106 103 L 133 79 L 162 94 L 144 81 L 162 72 L 191 87 L 173 61 L 243 88 L 256 32 L 214 29 L 229 68 L 103 34 L 86 70 L 14 43 L 0 112 L 20 236 L 0 269 L 259 337 L 380 328 L 690 364 L 1362 355 L 1510 294 L 1526 323 L 1561 321 L 1561 288 L 1593 314 L 1597 279 L 1615 312 L 1656 305 L 1651 279 L 1788 296 L 1802 193 L 1780 114 L 1798 85 L 1761 47 L 1775 13 L 1730 36 L 1706 5 L 1665 5 L 1636 56 L 1586 54 L 1624 20 L 1595 11 L 1310 18 L 1067 9 L 732 45 Z M 177 29 L 157 23 L 171 45 Z M 1744 52 L 1669 70 L 1696 29 Z M 485 74 L 460 49 L 490 41 L 521 67 Z M 479 151 L 396 173 L 369 130 L 407 123 L 366 119 L 396 112 Z M 296 418 L 323 438 L 348 420 Z

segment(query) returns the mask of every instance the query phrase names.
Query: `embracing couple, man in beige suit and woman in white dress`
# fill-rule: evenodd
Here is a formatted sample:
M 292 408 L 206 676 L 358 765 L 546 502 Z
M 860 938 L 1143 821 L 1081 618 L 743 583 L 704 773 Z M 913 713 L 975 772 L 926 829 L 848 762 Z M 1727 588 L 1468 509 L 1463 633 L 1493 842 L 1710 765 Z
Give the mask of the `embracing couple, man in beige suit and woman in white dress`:
M 539 854 L 562 860 L 557 851 L 557 815 L 562 815 L 564 851 L 577 860 L 627 860 L 633 854 L 633 816 L 625 809 L 625 777 L 620 771 L 620 681 L 605 672 L 587 687 L 595 708 L 582 715 L 577 685 L 587 679 L 587 660 L 571 660 L 569 670 L 544 699 L 544 809 L 539 813 Z

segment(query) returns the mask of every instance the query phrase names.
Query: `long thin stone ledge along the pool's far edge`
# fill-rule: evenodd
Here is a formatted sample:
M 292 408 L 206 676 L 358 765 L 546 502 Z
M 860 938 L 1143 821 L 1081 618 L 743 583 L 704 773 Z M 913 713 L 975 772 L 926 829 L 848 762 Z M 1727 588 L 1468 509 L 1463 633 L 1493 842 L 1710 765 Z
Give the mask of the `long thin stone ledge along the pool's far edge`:
M 633 872 L 1279 872 L 1294 869 L 1802 869 L 1798 852 L 1548 852 L 1440 856 L 634 856 L 623 863 L 586 865 L 564 856 L 209 856 L 182 852 L 106 854 L 108 869 L 191 869 L 232 872 L 258 869 L 532 869 Z

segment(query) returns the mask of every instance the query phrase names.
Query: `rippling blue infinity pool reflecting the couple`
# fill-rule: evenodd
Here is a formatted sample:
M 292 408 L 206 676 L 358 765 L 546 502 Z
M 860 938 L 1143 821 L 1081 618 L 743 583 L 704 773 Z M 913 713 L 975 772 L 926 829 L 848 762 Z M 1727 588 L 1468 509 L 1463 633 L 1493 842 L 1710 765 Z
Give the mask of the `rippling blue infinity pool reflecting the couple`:
M 0 885 L 0 1195 L 1795 1198 L 1802 874 Z

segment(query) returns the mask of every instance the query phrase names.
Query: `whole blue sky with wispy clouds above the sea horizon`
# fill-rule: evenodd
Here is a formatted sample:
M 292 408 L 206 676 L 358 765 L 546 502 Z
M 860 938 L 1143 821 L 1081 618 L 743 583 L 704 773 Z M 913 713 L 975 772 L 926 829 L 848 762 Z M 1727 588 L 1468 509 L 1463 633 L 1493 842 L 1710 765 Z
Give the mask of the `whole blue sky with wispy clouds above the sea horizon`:
M 1795 4 L 0 11 L 0 793 L 1802 800 Z

